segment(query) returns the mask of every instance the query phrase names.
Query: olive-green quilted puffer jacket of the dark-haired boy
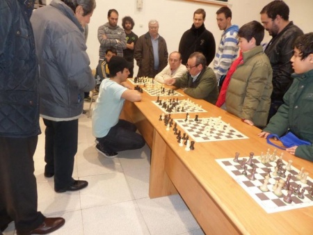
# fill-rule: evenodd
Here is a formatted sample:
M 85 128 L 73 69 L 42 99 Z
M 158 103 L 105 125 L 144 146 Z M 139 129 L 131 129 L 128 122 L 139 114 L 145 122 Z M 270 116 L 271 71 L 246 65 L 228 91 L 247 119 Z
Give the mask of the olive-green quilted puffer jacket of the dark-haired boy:
M 243 52 L 226 93 L 226 110 L 242 119 L 265 127 L 271 105 L 272 68 L 262 46 Z

